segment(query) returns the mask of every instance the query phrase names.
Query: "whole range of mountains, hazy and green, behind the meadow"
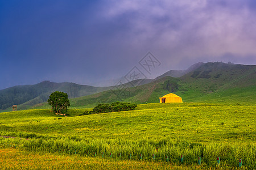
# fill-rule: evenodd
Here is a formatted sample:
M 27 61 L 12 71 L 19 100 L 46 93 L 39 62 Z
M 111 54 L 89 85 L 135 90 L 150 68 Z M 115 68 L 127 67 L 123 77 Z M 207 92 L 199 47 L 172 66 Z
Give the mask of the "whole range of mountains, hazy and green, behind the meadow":
M 14 99 L 19 99 L 19 95 L 24 95 L 25 98 L 26 96 L 30 96 L 32 99 L 18 105 L 19 110 L 49 108 L 47 103 L 42 102 L 48 99 L 51 92 L 64 91 L 68 93 L 69 99 L 71 99 L 71 108 L 93 108 L 98 103 L 112 103 L 114 101 L 137 104 L 158 103 L 159 97 L 174 92 L 182 97 L 183 102 L 187 103 L 210 102 L 237 104 L 237 101 L 239 101 L 239 103 L 255 104 L 255 65 L 232 65 L 222 62 L 200 63 L 188 70 L 190 72 L 180 78 L 165 76 L 152 82 L 151 80 L 146 80 L 145 82 L 150 83 L 137 87 L 131 87 L 130 83 L 118 87 L 92 87 L 81 86 L 75 83 L 42 82 L 33 86 L 34 88 L 32 89 L 39 94 L 43 94 L 30 96 L 30 93 L 24 92 L 23 90 L 15 90 L 15 88 L 18 88 L 15 87 L 0 91 L 0 101 L 3 100 L 6 104 L 12 105 L 14 104 Z M 136 84 L 136 80 L 134 83 Z M 27 90 L 31 90 L 27 86 L 22 88 L 25 87 Z M 8 95 L 5 94 L 8 90 L 13 91 L 13 94 L 16 91 L 17 95 L 11 97 L 10 101 L 6 99 Z M 18 101 L 15 104 L 17 103 Z M 2 104 L 2 108 L 6 108 L 6 104 Z M 2 112 L 4 111 L 11 111 L 11 108 L 2 110 Z

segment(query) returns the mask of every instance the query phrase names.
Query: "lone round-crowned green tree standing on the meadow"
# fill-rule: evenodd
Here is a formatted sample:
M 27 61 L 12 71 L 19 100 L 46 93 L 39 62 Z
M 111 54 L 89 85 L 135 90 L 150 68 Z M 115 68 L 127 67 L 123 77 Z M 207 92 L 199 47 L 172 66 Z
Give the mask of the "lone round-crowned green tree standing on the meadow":
M 70 106 L 68 95 L 61 91 L 53 92 L 47 101 L 55 113 L 67 113 Z

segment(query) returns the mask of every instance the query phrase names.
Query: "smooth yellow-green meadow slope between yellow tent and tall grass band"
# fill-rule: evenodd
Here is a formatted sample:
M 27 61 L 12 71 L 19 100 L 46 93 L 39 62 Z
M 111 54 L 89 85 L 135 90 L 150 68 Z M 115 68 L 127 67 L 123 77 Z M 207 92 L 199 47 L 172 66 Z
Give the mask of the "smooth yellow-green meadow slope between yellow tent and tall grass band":
M 69 110 L 75 116 L 84 109 Z M 194 142 L 255 142 L 255 107 L 217 104 L 144 104 L 136 111 L 62 117 L 49 110 L 0 113 L 0 131 L 24 131 L 50 137 L 182 138 Z M 224 125 L 222 125 L 224 124 Z

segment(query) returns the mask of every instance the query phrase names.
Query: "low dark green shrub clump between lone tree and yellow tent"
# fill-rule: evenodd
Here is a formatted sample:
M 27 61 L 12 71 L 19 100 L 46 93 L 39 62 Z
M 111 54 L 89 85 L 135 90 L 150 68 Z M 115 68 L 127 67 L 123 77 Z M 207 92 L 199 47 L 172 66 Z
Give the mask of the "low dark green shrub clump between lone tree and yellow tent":
M 114 102 L 112 104 L 104 103 L 98 104 L 96 107 L 93 108 L 92 111 L 85 111 L 84 113 L 80 114 L 87 115 L 87 114 L 95 114 L 95 113 L 108 113 L 108 112 L 120 112 L 120 111 L 133 111 L 137 107 L 136 104 L 131 103 L 121 103 L 119 101 Z

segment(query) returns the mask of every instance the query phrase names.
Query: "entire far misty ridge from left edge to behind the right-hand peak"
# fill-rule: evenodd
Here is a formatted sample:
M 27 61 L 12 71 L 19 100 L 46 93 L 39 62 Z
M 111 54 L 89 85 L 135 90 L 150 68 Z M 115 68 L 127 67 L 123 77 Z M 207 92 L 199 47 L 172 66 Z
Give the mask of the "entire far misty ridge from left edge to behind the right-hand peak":
M 189 67 L 188 70 L 191 70 L 191 68 L 193 69 L 195 66 L 200 64 L 201 62 L 196 63 L 195 65 Z M 160 75 L 156 79 L 162 78 L 164 76 L 181 76 L 184 75 L 185 71 L 186 70 L 171 70 L 167 73 L 164 73 L 163 75 Z M 49 95 L 51 95 L 51 93 L 54 91 L 63 91 L 68 94 L 69 98 L 76 98 L 80 96 L 97 94 L 98 92 L 106 90 L 119 89 L 120 87 L 129 88 L 133 86 L 139 86 L 150 83 L 152 81 L 154 80 L 138 79 L 125 84 L 119 84 L 118 86 L 109 87 L 94 87 L 76 83 L 55 83 L 49 81 L 40 82 L 35 85 L 14 86 L 0 90 L 0 111 L 11 111 L 12 105 L 19 105 L 19 109 L 27 109 L 36 104 L 41 105 L 40 103 L 47 101 Z

